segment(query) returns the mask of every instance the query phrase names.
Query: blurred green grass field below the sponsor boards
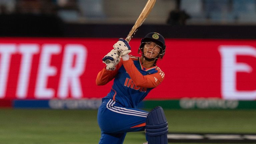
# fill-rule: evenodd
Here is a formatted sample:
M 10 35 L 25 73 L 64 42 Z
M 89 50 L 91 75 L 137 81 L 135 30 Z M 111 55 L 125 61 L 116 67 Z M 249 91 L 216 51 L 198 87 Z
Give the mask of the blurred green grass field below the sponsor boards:
M 165 114 L 169 132 L 256 133 L 256 110 L 165 110 Z M 99 138 L 97 110 L 0 109 L 0 144 L 97 144 Z M 124 144 L 143 142 L 144 133 L 134 132 L 127 134 Z

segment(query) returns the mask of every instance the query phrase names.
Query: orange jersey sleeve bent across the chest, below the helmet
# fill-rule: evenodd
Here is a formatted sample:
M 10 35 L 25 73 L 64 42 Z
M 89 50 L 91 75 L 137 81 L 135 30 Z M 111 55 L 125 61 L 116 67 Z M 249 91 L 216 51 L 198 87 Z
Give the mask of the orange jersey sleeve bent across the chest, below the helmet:
M 123 61 L 123 65 L 135 85 L 145 88 L 155 88 L 164 80 L 164 72 L 157 68 L 157 72 L 149 75 L 142 75 L 135 67 L 132 59 Z

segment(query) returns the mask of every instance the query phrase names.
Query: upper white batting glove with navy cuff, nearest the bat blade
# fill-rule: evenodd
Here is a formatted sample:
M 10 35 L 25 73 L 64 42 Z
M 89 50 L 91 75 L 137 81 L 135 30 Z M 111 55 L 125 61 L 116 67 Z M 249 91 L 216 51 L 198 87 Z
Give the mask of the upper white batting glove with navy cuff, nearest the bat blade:
M 130 45 L 123 38 L 120 38 L 118 42 L 113 45 L 113 47 L 121 53 L 121 56 L 127 55 L 131 52 Z

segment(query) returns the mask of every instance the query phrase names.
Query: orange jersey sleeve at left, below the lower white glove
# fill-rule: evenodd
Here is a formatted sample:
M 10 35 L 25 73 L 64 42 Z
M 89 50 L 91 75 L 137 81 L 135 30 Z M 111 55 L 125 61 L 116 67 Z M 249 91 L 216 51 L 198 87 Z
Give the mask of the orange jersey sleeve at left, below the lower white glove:
M 105 85 L 110 82 L 112 79 L 115 78 L 119 68 L 122 66 L 123 60 L 121 59 L 120 62 L 116 65 L 116 69 L 113 71 L 106 70 L 106 66 L 98 73 L 96 78 L 97 85 Z

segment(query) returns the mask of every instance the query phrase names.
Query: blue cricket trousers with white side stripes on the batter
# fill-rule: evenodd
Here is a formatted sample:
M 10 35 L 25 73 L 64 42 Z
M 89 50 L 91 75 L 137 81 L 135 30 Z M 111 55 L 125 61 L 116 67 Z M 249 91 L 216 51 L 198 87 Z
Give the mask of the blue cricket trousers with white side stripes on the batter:
M 147 111 L 125 108 L 112 99 L 103 99 L 98 110 L 99 144 L 122 144 L 127 132 L 144 131 L 147 115 Z

